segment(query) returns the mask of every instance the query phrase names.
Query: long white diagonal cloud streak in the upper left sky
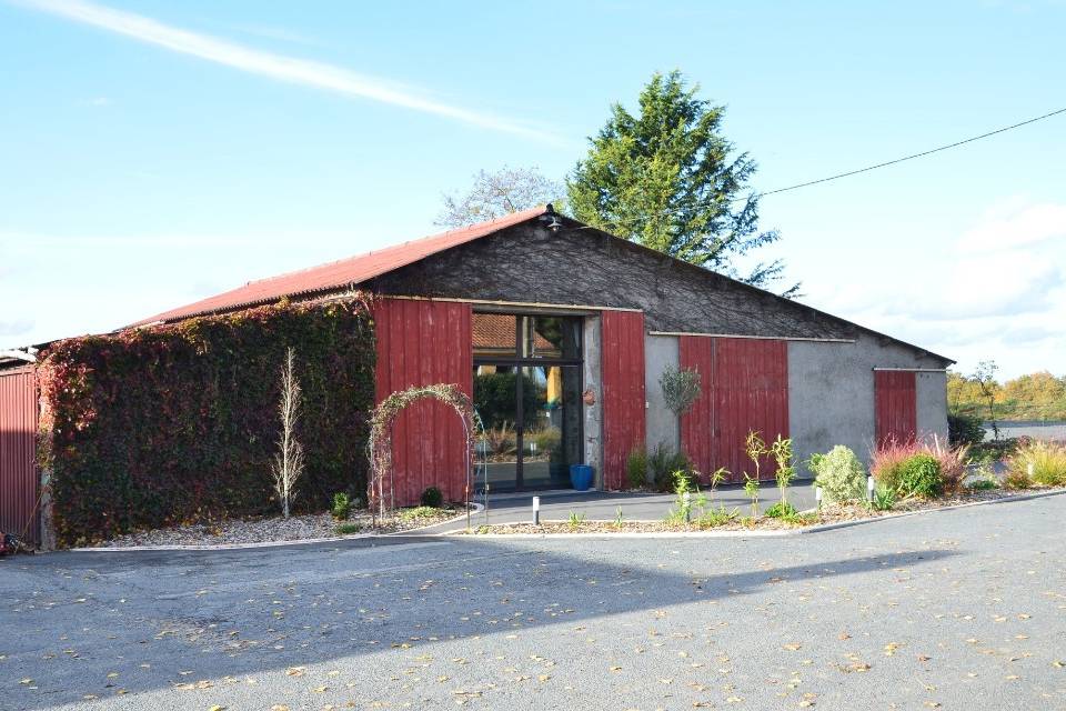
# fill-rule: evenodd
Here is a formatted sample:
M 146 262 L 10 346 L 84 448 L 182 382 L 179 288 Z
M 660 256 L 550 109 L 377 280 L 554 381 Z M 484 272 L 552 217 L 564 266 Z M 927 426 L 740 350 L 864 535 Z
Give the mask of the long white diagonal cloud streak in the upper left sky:
M 413 111 L 445 117 L 493 131 L 559 143 L 560 138 L 529 124 L 426 99 L 374 77 L 296 57 L 262 50 L 171 27 L 151 18 L 80 0 L 18 0 L 24 7 L 90 24 L 135 40 L 191 54 L 241 71 L 349 97 L 380 101 Z

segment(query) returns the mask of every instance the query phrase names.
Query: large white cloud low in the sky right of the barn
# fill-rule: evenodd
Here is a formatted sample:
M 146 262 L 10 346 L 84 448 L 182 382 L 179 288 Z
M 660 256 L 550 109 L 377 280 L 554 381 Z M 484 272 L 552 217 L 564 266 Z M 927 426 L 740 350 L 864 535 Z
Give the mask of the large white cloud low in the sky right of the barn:
M 1050 219 L 1062 213 L 1066 204 L 1000 202 L 958 239 L 878 250 L 872 271 L 804 286 L 815 306 L 954 358 L 964 371 L 994 359 L 1005 377 L 1066 374 L 1066 240 Z

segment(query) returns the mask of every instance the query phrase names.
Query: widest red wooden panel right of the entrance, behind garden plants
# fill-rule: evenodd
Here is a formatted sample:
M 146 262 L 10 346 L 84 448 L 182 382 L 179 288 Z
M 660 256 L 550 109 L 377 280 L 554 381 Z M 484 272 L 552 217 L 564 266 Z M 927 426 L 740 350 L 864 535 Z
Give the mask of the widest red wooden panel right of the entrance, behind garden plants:
M 744 451 L 752 430 L 767 444 L 778 434 L 788 437 L 788 344 L 780 340 L 682 336 L 682 368 L 701 375 L 703 392 L 681 418 L 682 449 L 696 469 L 710 474 L 720 467 L 731 481 L 754 474 L 754 462 Z M 760 475 L 774 478 L 770 458 L 760 462 Z

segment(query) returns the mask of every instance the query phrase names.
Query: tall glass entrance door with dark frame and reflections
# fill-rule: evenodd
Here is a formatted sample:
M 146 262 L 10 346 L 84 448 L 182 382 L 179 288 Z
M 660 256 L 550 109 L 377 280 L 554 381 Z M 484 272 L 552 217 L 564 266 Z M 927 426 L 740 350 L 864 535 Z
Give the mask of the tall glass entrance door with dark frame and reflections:
M 569 487 L 570 465 L 583 459 L 581 319 L 475 313 L 473 332 L 491 490 Z

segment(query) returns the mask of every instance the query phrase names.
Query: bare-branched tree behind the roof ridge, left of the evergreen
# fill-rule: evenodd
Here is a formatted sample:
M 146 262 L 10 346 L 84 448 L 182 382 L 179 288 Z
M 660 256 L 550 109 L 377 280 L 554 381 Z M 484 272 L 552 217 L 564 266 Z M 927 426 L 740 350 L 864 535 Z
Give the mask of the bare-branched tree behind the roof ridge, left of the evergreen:
M 554 203 L 557 209 L 565 196 L 562 183 L 545 178 L 536 168 L 507 168 L 495 172 L 477 171 L 474 184 L 465 194 L 444 196 L 444 210 L 436 224 L 460 228 L 495 220 L 512 212 L 539 204 Z

